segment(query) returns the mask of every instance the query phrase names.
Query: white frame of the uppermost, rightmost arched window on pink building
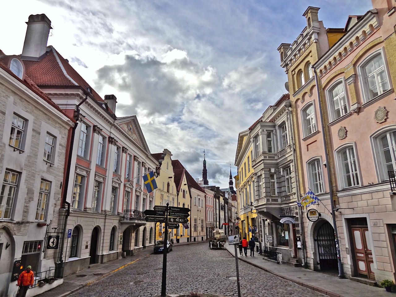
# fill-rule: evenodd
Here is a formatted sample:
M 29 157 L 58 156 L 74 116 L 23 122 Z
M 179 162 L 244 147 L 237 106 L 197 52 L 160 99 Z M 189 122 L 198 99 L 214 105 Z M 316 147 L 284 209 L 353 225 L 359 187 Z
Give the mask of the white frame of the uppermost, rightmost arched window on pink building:
M 364 70 L 364 67 L 366 67 L 366 65 L 369 63 L 369 61 L 373 60 L 375 58 L 375 56 L 377 55 L 381 55 L 381 59 L 383 62 L 383 67 L 384 67 L 384 72 L 386 75 L 386 80 L 388 82 L 388 89 L 386 91 L 384 91 L 383 93 L 379 93 L 377 96 L 373 97 L 373 98 L 369 98 L 369 88 L 366 82 L 366 70 Z M 386 59 L 386 55 L 385 55 L 385 48 L 379 48 L 375 51 L 373 51 L 372 53 L 370 53 L 369 55 L 367 55 L 367 57 L 365 57 L 357 66 L 357 70 L 358 70 L 358 76 L 359 76 L 359 82 L 360 82 L 360 90 L 362 91 L 362 103 L 369 103 L 370 101 L 373 101 L 375 99 L 377 99 L 378 97 L 382 96 L 383 94 L 385 94 L 387 91 L 389 91 L 390 89 L 392 89 L 392 80 L 390 80 L 390 74 L 389 74 L 389 67 L 388 67 L 388 61 Z M 378 85 L 377 85 L 378 86 Z

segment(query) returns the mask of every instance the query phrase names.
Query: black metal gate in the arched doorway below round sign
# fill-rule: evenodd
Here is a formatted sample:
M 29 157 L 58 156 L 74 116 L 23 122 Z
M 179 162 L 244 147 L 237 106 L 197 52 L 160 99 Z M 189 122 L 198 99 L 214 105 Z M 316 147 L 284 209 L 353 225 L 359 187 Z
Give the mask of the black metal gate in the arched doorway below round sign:
M 320 226 L 316 235 L 320 270 L 337 270 L 337 250 L 335 248 L 334 229 L 329 222 Z

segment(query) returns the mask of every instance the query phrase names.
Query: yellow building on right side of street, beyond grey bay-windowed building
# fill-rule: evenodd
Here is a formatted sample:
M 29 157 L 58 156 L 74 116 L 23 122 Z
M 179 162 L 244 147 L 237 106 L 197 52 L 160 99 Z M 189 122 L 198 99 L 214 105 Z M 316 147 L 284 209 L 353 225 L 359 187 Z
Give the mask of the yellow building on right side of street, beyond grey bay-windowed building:
M 259 236 L 257 213 L 254 209 L 255 180 L 251 167 L 253 143 L 249 137 L 250 130 L 251 128 L 239 133 L 235 156 L 235 166 L 238 167 L 238 178 L 236 179 L 238 216 L 240 217 L 238 226 L 242 238 L 246 237 L 247 240 L 252 236 Z

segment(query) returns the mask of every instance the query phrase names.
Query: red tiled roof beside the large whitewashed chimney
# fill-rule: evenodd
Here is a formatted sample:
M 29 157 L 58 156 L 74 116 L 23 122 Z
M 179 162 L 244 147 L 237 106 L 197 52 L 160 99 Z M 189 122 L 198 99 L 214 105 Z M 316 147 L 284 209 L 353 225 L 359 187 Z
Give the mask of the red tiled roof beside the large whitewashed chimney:
M 53 46 L 47 47 L 47 55 L 40 61 L 24 60 L 23 63 L 27 75 L 40 88 L 81 88 L 86 91 L 89 87 L 96 101 L 105 102 Z

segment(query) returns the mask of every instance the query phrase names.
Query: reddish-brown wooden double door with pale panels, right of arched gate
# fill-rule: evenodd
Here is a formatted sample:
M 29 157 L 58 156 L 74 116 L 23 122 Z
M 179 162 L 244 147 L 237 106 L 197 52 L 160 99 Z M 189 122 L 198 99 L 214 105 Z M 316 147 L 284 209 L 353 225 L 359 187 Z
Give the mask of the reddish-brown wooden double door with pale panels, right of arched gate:
M 359 276 L 375 279 L 373 254 L 367 228 L 351 228 L 355 253 L 356 269 Z

